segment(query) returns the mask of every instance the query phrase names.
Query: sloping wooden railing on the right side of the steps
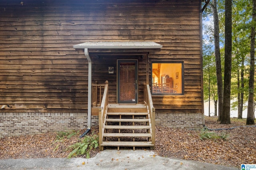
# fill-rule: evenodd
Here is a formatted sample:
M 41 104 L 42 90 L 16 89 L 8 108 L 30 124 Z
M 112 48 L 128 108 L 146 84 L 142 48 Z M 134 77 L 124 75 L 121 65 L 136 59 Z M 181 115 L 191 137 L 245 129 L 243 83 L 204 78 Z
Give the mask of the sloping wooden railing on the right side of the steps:
M 151 142 L 155 145 L 155 117 L 156 117 L 156 109 L 153 106 L 152 96 L 150 92 L 150 88 L 148 84 L 144 85 L 144 103 L 147 106 L 149 113 L 149 125 L 151 132 Z

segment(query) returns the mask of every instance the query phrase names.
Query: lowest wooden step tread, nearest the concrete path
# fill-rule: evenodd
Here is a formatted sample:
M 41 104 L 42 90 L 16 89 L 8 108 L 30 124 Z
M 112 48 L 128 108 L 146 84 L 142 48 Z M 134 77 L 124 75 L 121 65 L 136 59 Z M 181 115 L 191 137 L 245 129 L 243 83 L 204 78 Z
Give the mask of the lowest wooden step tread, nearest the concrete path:
M 102 147 L 154 147 L 151 142 L 103 141 Z

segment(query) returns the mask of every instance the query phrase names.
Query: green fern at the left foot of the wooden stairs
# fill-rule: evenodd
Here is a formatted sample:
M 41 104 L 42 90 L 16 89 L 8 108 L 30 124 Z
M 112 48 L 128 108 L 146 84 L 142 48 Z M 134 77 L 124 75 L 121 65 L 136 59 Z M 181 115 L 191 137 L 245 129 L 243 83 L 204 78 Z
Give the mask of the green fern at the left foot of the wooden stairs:
M 80 139 L 80 142 L 68 147 L 73 149 L 68 155 L 68 158 L 84 154 L 86 154 L 86 158 L 90 158 L 90 150 L 96 149 L 98 147 L 98 143 L 99 136 L 92 132 L 91 135 L 86 135 L 84 139 Z

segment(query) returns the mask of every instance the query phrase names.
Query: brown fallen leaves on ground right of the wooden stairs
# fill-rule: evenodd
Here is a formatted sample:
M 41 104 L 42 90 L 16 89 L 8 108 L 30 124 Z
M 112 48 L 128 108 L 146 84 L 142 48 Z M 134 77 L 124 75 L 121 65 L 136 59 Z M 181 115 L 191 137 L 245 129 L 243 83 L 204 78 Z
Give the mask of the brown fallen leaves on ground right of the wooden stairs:
M 245 125 L 234 121 L 220 125 L 217 117 L 206 117 L 205 124 L 211 129 Z M 233 119 L 234 120 L 234 119 Z M 241 164 L 256 164 L 256 127 L 238 127 L 232 130 L 215 131 L 227 133 L 228 138 L 200 139 L 200 131 L 188 129 L 156 128 L 156 149 L 159 156 L 197 160 L 212 164 L 240 167 Z

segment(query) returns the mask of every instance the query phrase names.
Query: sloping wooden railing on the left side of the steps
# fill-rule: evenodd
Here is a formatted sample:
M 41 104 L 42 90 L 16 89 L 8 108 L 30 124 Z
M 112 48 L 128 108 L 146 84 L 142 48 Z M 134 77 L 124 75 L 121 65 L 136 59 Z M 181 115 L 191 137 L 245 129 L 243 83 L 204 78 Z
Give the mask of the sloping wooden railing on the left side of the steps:
M 103 133 L 104 133 L 104 128 L 106 124 L 107 111 L 108 111 L 108 81 L 106 81 L 102 102 L 99 108 L 99 149 L 100 150 L 103 150 L 103 147 L 101 146 L 101 144 L 103 141 Z

